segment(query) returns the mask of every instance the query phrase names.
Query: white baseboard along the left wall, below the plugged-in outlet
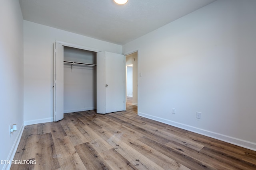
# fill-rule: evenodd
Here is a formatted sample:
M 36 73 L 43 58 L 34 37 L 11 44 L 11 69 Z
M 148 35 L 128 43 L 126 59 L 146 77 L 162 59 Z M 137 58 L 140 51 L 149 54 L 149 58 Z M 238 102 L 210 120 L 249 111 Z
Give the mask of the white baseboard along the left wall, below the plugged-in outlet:
M 8 155 L 8 158 L 6 160 L 13 160 L 14 155 L 16 153 L 16 150 L 18 149 L 20 138 L 22 136 L 24 130 L 24 123 L 22 123 L 20 130 L 18 131 L 18 135 L 14 141 L 14 144 L 12 145 L 12 149 L 10 150 L 10 153 Z M 10 170 L 12 164 L 4 164 L 3 170 Z

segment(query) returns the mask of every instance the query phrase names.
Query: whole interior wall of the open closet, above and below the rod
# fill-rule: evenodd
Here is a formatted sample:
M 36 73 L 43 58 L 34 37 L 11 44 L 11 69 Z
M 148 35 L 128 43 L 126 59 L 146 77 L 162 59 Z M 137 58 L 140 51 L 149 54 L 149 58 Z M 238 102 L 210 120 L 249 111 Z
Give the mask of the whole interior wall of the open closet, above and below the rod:
M 96 64 L 96 52 L 64 46 L 64 61 Z M 64 63 L 64 113 L 96 109 L 96 66 Z

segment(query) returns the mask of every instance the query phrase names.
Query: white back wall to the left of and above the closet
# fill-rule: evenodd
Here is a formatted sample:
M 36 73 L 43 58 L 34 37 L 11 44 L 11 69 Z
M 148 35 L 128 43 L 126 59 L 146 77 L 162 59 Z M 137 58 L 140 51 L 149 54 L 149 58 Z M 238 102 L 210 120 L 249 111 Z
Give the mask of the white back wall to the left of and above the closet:
M 53 120 L 53 44 L 55 40 L 100 51 L 122 53 L 122 46 L 24 21 L 24 122 Z

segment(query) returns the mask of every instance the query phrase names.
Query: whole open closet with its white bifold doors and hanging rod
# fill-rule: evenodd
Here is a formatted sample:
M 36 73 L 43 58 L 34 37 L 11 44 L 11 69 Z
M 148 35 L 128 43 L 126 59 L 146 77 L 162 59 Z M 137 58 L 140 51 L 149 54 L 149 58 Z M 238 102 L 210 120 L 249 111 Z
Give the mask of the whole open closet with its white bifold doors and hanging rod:
M 56 41 L 53 73 L 54 121 L 64 113 L 126 109 L 124 55 Z

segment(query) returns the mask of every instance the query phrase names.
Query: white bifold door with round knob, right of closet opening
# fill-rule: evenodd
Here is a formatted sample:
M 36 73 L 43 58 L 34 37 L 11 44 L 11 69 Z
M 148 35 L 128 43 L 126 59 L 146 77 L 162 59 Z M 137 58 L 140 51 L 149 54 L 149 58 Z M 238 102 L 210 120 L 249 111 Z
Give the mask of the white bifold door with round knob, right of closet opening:
M 124 55 L 97 53 L 97 113 L 126 109 Z

